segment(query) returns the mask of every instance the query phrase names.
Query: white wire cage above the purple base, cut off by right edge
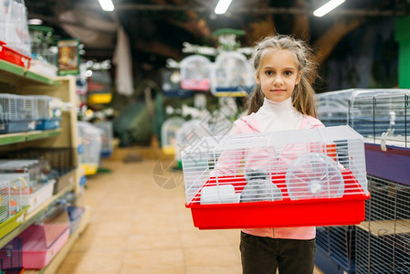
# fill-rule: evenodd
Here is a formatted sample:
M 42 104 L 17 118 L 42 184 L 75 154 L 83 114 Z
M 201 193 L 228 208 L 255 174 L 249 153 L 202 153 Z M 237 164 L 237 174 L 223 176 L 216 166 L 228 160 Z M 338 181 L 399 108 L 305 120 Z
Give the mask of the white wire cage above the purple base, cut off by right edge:
M 365 142 L 410 147 L 410 90 L 357 90 L 349 125 Z

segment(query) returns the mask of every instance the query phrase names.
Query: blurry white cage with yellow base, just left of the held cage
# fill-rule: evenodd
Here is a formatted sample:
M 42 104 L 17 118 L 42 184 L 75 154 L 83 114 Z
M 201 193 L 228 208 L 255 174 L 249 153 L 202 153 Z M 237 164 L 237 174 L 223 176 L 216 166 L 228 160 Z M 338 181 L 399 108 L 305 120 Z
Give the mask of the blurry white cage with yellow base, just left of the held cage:
M 161 127 L 161 146 L 164 154 L 173 155 L 176 147 L 176 132 L 184 125 L 184 118 L 170 117 Z

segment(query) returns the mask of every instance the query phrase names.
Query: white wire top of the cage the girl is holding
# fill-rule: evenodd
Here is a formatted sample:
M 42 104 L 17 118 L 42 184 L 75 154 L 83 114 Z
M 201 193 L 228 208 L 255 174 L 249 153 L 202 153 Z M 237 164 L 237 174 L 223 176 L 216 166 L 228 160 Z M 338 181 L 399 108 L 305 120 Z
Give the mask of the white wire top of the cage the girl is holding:
M 367 194 L 363 137 L 349 126 L 205 137 L 182 162 L 188 204 Z

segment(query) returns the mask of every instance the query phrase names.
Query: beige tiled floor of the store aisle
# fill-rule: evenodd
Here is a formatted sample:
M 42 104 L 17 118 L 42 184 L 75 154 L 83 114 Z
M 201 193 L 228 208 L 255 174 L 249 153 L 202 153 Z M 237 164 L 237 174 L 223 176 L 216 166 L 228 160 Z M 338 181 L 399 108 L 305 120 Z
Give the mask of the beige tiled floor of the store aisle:
M 111 173 L 89 178 L 89 227 L 58 274 L 241 273 L 239 231 L 195 228 L 180 175 L 154 161 L 102 166 Z

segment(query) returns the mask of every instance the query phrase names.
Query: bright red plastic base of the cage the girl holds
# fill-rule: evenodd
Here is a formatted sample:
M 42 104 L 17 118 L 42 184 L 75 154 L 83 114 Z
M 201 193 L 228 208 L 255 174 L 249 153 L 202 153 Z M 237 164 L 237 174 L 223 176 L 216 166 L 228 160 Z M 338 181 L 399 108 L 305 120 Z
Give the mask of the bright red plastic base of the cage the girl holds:
M 350 173 L 343 173 L 343 177 L 345 180 L 353 178 Z M 231 180 L 221 181 L 229 184 Z M 213 181 L 211 179 L 208 183 Z M 245 184 L 244 181 L 235 185 L 236 189 L 243 188 Z M 352 194 L 354 190 L 360 191 Z M 198 202 L 199 195 L 194 201 Z M 369 197 L 360 184 L 355 184 L 346 188 L 341 198 L 290 200 L 284 194 L 282 201 L 218 205 L 191 203 L 186 207 L 191 209 L 194 227 L 199 229 L 347 226 L 364 220 L 364 202 Z

